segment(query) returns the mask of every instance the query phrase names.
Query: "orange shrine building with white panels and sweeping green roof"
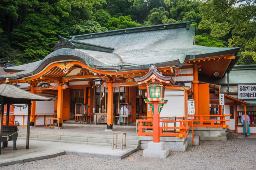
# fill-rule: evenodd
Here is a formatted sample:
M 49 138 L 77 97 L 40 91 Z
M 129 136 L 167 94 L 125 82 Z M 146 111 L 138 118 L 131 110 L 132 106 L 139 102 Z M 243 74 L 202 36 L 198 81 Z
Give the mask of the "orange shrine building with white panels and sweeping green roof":
M 168 102 L 162 107 L 160 120 L 175 117 L 182 123 L 175 126 L 183 127 L 178 129 L 180 133 L 165 136 L 186 137 L 189 128 L 185 127 L 191 127 L 191 119 L 197 121 L 194 127 L 232 127 L 238 133 L 233 128 L 237 121 L 228 121 L 230 114 L 226 111 L 227 117 L 219 105 L 222 84 L 217 80 L 234 68 L 240 48 L 195 45 L 195 28 L 190 27 L 190 22 L 74 35 L 71 39 L 59 36 L 54 51 L 43 60 L 3 68 L 9 74 L 0 76 L 0 80 L 3 83 L 8 78 L 28 92 L 53 99 L 32 102 L 30 126 L 45 126 L 50 117 L 74 120 L 81 104 L 86 119 L 94 124 L 105 123 L 111 130 L 116 123 L 152 120 L 152 108 L 144 102 L 152 96 L 134 78 L 146 76 L 153 65 L 159 75 L 171 77 L 162 95 Z M 150 80 L 154 82 L 154 78 Z M 156 81 L 156 86 L 161 84 Z M 236 119 L 237 106 L 245 107 L 247 102 L 230 95 L 224 95 L 225 105 L 233 106 L 232 116 Z M 193 113 L 188 113 L 190 99 L 194 100 Z M 128 113 L 122 120 L 117 115 L 118 109 L 124 114 L 124 106 Z M 17 121 L 27 126 L 26 113 L 26 108 L 13 108 L 9 123 Z M 251 134 L 256 133 L 253 131 Z M 149 134 L 140 131 L 138 135 Z

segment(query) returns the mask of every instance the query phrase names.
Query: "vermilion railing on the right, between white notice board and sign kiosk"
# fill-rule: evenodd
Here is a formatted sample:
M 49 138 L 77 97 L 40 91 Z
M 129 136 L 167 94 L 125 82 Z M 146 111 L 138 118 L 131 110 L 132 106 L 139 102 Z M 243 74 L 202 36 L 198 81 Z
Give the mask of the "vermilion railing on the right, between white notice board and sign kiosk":
M 200 124 L 196 125 L 194 124 L 194 127 L 222 127 L 222 128 L 226 128 L 228 127 L 228 125 L 226 125 L 226 121 L 230 121 L 230 120 L 226 120 L 225 117 L 226 116 L 231 116 L 231 115 L 188 115 L 189 117 L 194 117 L 194 118 L 198 118 L 198 119 L 190 119 L 193 120 L 193 122 L 200 122 Z M 220 119 L 203 119 L 203 117 L 220 117 Z M 210 124 L 209 124 L 209 123 Z M 214 123 L 216 122 L 216 123 Z M 189 122 L 189 125 L 191 126 L 192 122 Z

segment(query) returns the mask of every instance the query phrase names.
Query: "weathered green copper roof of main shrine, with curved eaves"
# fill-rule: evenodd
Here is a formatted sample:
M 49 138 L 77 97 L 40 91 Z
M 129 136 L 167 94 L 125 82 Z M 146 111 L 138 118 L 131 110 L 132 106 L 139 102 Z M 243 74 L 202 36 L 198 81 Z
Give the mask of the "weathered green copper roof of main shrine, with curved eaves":
M 54 47 L 56 51 L 29 66 L 4 68 L 6 72 L 18 73 L 2 78 L 33 75 L 51 62 L 68 59 L 99 70 L 128 71 L 148 69 L 151 63 L 158 68 L 181 67 L 188 59 L 236 55 L 240 50 L 194 45 L 195 30 L 189 24 L 190 21 L 76 35 L 72 40 L 59 37 L 60 41 Z

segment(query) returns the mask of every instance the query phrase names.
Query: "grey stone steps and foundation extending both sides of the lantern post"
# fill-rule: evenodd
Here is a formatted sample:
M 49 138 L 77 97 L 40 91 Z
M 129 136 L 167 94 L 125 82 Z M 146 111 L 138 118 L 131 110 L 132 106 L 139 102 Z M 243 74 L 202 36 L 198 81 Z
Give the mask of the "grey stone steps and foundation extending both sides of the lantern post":
M 56 131 L 53 132 L 53 131 L 30 130 L 30 140 L 37 140 L 37 141 L 112 146 L 112 140 L 113 140 L 112 138 L 113 138 L 112 135 L 102 135 L 102 134 L 66 133 L 66 132 L 56 132 Z M 26 130 L 19 131 L 18 139 L 26 139 Z M 127 135 L 126 137 L 127 147 L 136 148 L 137 150 L 146 149 L 150 141 L 153 141 L 152 136 Z M 160 137 L 160 141 L 164 141 L 165 147 L 169 148 L 170 151 L 185 151 L 190 143 L 190 141 L 186 137 L 184 138 Z M 118 143 L 121 143 L 120 135 L 118 135 Z

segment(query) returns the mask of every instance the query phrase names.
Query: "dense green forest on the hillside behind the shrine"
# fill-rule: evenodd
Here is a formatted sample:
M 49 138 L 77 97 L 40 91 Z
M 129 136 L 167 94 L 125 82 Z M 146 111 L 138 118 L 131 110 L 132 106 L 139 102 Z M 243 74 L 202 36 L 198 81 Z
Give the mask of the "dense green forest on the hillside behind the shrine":
M 196 20 L 196 45 L 242 47 L 237 64 L 256 64 L 253 0 L 0 0 L 0 61 L 42 60 L 58 35 L 81 35 Z

